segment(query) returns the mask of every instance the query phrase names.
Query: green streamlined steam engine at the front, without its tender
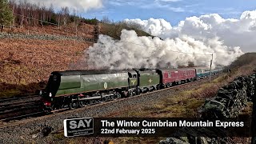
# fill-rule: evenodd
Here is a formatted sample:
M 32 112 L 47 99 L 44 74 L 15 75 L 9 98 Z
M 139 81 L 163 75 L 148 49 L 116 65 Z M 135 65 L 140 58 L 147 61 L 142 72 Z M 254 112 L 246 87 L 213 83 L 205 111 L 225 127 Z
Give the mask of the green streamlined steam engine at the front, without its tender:
M 137 73 L 130 71 L 54 71 L 41 92 L 46 110 L 76 108 L 126 97 L 138 86 Z

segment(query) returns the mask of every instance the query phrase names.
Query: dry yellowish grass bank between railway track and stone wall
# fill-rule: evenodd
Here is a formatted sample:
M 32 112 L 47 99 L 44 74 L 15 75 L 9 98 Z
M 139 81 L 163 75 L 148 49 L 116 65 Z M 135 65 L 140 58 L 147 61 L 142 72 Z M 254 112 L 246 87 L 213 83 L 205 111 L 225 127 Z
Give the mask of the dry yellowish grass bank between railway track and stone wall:
M 144 118 L 194 118 L 198 117 L 198 108 L 209 98 L 216 94 L 221 85 L 206 83 L 196 89 L 182 91 L 177 95 L 156 102 L 152 106 L 145 106 L 141 110 L 131 110 L 122 117 Z

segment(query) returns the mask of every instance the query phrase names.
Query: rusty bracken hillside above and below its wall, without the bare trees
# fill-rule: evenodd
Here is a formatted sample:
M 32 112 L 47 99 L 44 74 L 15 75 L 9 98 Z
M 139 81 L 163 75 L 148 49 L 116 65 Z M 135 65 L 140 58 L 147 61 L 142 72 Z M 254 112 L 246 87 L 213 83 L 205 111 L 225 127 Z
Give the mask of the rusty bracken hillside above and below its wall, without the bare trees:
M 74 22 L 71 22 L 59 27 L 5 28 L 0 33 L 0 98 L 34 94 L 35 90 L 46 86 L 47 78 L 54 70 L 85 70 L 86 64 L 81 63 L 86 57 L 84 50 L 96 42 L 98 34 L 118 39 L 122 28 L 129 27 L 114 23 L 100 23 L 99 26 L 80 23 L 76 29 Z M 141 36 L 149 35 L 136 31 Z

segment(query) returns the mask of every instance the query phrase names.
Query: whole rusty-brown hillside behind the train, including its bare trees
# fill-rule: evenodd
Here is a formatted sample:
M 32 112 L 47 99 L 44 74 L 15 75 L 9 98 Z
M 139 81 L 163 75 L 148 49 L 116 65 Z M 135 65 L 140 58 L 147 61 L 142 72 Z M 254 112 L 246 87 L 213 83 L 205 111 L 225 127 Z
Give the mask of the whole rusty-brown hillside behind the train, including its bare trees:
M 98 34 L 120 38 L 121 30 L 136 30 L 122 22 L 101 23 L 26 1 L 9 1 L 13 19 L 0 23 L 0 98 L 34 94 L 45 88 L 52 71 L 86 70 L 84 50 L 98 40 Z M 42 17 L 43 15 L 43 17 Z

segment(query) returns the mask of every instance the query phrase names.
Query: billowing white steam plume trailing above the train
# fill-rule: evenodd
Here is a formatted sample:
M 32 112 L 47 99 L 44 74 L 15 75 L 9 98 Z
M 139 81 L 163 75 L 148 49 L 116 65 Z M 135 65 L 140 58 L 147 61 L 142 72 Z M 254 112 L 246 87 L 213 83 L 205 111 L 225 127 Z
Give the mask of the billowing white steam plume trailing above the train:
M 223 45 L 218 38 L 202 42 L 183 35 L 180 38 L 161 40 L 160 38 L 138 37 L 134 30 L 122 30 L 120 41 L 100 35 L 98 43 L 86 50 L 89 56 L 87 62 L 97 69 L 176 67 L 186 65 L 187 62 L 202 65 L 206 60 L 211 59 L 211 56 L 206 54 L 212 53 L 214 54 L 214 66 L 216 66 L 228 65 L 241 55 L 242 51 L 239 47 L 231 48 Z

